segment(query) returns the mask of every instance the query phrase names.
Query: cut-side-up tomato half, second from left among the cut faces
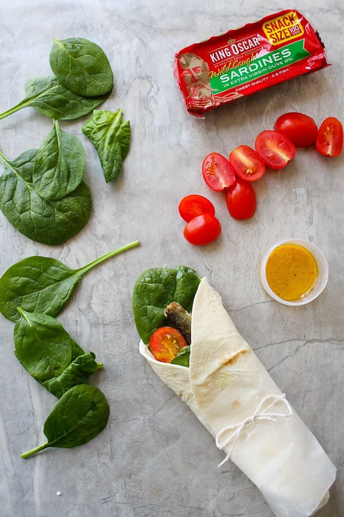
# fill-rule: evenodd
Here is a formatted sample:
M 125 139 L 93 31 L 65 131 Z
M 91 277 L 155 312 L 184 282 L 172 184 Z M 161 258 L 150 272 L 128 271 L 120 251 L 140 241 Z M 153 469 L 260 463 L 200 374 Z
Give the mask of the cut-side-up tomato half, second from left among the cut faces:
M 245 181 L 256 181 L 265 173 L 264 161 L 248 145 L 239 145 L 230 154 L 230 163 L 235 175 Z

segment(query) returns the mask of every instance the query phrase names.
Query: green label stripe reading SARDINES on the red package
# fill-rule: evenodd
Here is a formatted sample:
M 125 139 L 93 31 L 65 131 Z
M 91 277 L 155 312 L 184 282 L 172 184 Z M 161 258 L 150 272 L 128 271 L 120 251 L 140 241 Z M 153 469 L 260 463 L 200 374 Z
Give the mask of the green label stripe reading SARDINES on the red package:
M 253 59 L 249 66 L 239 66 L 223 71 L 219 77 L 210 79 L 210 86 L 214 94 L 225 92 L 231 88 L 249 83 L 268 73 L 285 68 L 308 57 L 310 53 L 304 48 L 304 39 L 285 45 L 284 47 L 268 52 L 264 56 Z

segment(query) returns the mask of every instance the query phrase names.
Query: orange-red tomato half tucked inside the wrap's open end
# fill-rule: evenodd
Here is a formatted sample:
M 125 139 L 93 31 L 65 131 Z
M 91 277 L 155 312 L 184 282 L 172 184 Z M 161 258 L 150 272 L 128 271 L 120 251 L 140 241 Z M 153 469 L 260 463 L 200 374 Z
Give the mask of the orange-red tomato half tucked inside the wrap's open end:
M 184 336 L 172 327 L 160 327 L 151 336 L 150 348 L 157 361 L 171 362 L 184 346 Z

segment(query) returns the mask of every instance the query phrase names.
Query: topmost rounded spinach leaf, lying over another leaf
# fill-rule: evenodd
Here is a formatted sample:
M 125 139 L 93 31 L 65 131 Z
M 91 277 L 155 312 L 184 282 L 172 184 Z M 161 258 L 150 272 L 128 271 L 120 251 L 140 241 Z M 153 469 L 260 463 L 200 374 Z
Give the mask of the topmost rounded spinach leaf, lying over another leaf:
M 104 51 L 84 38 L 54 38 L 50 66 L 62 86 L 77 95 L 106 94 L 113 86 L 113 74 Z

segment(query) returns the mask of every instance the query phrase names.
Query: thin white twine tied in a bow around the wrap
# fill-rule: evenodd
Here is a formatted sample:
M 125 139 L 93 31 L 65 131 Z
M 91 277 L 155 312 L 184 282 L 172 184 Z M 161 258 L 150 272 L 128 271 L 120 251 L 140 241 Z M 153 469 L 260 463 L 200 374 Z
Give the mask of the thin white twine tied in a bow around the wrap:
M 269 399 L 271 399 L 270 404 L 265 409 L 261 410 L 261 408 L 264 406 L 266 401 Z M 275 404 L 277 404 L 277 402 L 283 402 L 286 405 L 288 412 L 287 413 L 268 413 L 269 409 L 272 406 L 274 406 Z M 259 402 L 257 409 L 255 410 L 253 415 L 245 418 L 244 420 L 242 420 L 242 422 L 228 425 L 228 427 L 221 429 L 221 431 L 219 431 L 218 434 L 216 435 L 215 441 L 216 441 L 216 445 L 219 449 L 224 449 L 225 447 L 230 445 L 232 442 L 230 451 L 226 455 L 225 459 L 223 461 L 221 461 L 221 463 L 219 463 L 218 467 L 223 465 L 230 458 L 230 455 L 232 454 L 233 449 L 237 444 L 240 434 L 242 433 L 242 431 L 244 431 L 246 428 L 248 428 L 249 425 L 251 425 L 255 422 L 258 422 L 259 420 L 276 420 L 277 417 L 291 417 L 291 415 L 292 415 L 291 405 L 287 401 L 285 393 L 283 393 L 282 395 L 268 395 L 267 397 L 264 397 L 264 399 L 262 399 Z M 228 438 L 226 438 L 224 440 L 224 442 L 221 443 L 220 437 L 222 436 L 222 434 L 226 433 L 227 431 L 233 431 L 233 433 L 230 434 L 230 436 Z

